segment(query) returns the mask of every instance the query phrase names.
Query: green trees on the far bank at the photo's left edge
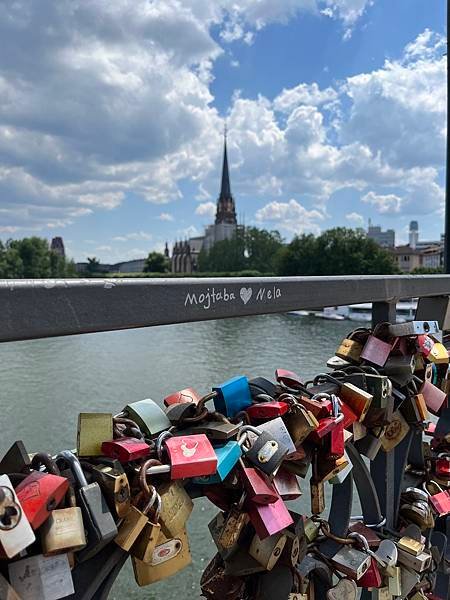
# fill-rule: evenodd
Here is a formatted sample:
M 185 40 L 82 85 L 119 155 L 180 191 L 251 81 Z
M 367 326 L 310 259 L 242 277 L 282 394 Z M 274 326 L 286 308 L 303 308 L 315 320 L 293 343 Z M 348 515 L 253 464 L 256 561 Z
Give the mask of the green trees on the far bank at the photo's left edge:
M 73 261 L 50 250 L 39 237 L 0 241 L 0 279 L 76 277 Z

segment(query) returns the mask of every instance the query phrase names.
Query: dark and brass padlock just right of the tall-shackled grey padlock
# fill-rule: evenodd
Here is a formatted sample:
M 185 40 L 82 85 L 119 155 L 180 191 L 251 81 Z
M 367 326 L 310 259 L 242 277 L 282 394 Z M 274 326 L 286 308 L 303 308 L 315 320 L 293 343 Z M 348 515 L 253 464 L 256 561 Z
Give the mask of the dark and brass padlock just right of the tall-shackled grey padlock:
M 131 491 L 128 477 L 120 463 L 119 468 L 101 463 L 92 465 L 89 472 L 92 480 L 101 487 L 110 511 L 119 519 L 123 519 L 130 510 Z

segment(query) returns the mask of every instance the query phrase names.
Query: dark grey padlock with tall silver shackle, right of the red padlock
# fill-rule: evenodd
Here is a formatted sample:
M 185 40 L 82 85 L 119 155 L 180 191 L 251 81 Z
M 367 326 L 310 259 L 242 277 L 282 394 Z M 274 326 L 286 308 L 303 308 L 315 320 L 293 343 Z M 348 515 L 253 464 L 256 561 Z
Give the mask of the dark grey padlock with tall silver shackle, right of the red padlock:
M 78 458 L 69 450 L 60 452 L 57 458 L 69 464 L 76 481 L 77 500 L 87 535 L 87 546 L 77 554 L 79 562 L 82 562 L 95 556 L 113 540 L 117 535 L 117 527 L 99 484 L 88 484 Z

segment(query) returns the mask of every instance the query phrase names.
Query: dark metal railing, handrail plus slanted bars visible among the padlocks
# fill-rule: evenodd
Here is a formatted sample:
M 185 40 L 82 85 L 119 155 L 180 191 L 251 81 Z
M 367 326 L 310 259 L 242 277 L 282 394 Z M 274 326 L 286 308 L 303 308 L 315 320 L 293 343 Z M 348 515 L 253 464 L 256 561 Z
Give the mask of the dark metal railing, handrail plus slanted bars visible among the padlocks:
M 0 280 L 0 342 L 362 302 L 372 302 L 373 324 L 395 322 L 398 300 L 412 297 L 419 298 L 417 318 L 437 320 L 441 329 L 450 329 L 449 296 L 450 275 Z M 450 414 L 445 419 L 450 420 Z M 354 476 L 333 486 L 332 531 L 342 536 L 348 529 L 353 480 L 365 521 L 382 521 L 392 528 L 408 458 L 423 460 L 421 431 L 411 429 L 393 451 L 379 452 L 370 463 L 370 473 L 351 444 L 348 450 Z M 333 544 L 325 542 L 321 551 L 335 552 Z M 111 556 L 102 556 L 104 565 Z M 99 570 L 97 563 L 88 565 L 86 572 L 82 569 L 77 575 L 82 580 L 80 590 L 90 586 L 97 591 L 94 596 L 80 591 L 79 597 L 106 599 L 124 560 L 111 572 L 109 567 Z M 440 573 L 437 581 L 438 588 L 448 589 L 448 574 Z M 364 590 L 362 598 L 370 598 L 370 592 Z

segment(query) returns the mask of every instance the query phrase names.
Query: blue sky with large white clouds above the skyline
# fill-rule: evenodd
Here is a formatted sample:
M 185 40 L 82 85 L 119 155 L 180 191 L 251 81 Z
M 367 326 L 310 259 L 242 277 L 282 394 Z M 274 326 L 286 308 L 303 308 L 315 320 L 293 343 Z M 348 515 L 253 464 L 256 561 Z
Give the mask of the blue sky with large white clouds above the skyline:
M 213 222 L 443 231 L 445 0 L 0 0 L 0 239 L 142 258 Z

